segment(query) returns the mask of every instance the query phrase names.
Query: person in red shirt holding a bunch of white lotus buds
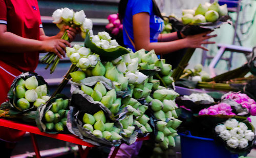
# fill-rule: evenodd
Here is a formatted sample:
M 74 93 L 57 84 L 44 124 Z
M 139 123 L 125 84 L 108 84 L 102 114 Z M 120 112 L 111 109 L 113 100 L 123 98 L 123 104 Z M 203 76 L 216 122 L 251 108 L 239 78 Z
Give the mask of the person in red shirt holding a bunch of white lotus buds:
M 54 52 L 60 58 L 65 57 L 65 48 L 70 47 L 70 43 L 60 38 L 67 30 L 72 41 L 79 29 L 65 26 L 57 35 L 46 36 L 42 29 L 37 0 L 0 0 L 0 8 L 0 104 L 2 104 L 7 101 L 7 94 L 14 78 L 21 73 L 33 72 L 36 69 L 39 52 Z M 17 142 L 24 133 L 24 131 L 0 127 L 0 140 Z M 0 142 L 0 150 L 4 150 L 7 155 L 1 157 L 10 156 L 10 153 L 3 149 L 6 147 L 5 142 Z

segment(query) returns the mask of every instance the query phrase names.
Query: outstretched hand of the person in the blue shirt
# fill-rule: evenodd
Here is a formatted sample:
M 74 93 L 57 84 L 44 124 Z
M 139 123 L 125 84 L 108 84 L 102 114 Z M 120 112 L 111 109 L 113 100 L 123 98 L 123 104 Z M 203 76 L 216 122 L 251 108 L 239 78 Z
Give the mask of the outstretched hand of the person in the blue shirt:
M 202 44 L 214 44 L 215 42 L 207 41 L 207 39 L 210 39 L 212 37 L 216 37 L 217 35 L 209 35 L 212 31 L 208 31 L 205 33 L 197 34 L 197 35 L 189 35 L 186 36 L 186 43 L 188 45 L 188 48 L 201 48 L 205 51 L 209 51 L 205 47 L 202 46 Z

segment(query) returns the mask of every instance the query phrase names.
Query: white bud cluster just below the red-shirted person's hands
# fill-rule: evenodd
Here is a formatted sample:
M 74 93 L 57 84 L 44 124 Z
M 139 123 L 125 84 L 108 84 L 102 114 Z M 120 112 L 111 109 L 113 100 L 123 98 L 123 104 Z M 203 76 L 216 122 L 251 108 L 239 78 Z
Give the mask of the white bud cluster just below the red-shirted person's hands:
M 71 62 L 76 64 L 81 70 L 94 67 L 100 61 L 99 55 L 92 54 L 89 48 L 81 47 L 78 44 L 73 48 L 66 47 L 66 52 Z

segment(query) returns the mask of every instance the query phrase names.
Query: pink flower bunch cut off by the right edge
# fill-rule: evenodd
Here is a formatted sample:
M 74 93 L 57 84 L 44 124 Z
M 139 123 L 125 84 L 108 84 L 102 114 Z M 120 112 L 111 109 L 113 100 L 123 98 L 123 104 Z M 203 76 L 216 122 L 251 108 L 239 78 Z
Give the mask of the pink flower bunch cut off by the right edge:
M 242 93 L 228 93 L 225 95 L 225 99 L 232 99 L 237 103 L 241 104 L 243 107 L 248 108 L 252 116 L 256 116 L 256 102 L 248 97 L 246 94 Z

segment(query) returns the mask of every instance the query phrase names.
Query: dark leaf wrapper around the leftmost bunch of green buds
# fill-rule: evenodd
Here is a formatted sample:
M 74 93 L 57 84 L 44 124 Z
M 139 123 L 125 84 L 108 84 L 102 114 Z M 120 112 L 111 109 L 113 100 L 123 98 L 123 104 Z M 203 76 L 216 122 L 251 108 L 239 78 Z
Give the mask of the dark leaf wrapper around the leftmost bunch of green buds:
M 30 111 L 30 110 L 33 110 L 35 107 L 33 105 L 33 103 L 30 103 L 30 108 L 26 109 L 26 110 L 22 110 L 20 109 L 17 105 L 16 105 L 16 102 L 17 102 L 17 98 L 16 98 L 16 93 L 15 93 L 15 89 L 16 89 L 16 86 L 17 86 L 17 82 L 20 78 L 26 80 L 32 76 L 35 76 L 37 81 L 38 81 L 38 86 L 39 85 L 43 85 L 43 84 L 46 84 L 47 85 L 47 94 L 49 95 L 49 88 L 48 88 L 48 84 L 47 82 L 45 81 L 44 78 L 42 78 L 40 75 L 37 75 L 36 73 L 32 73 L 32 72 L 27 72 L 27 73 L 22 73 L 20 74 L 19 76 L 17 76 L 12 84 L 11 84 L 11 88 L 8 92 L 8 99 L 9 101 L 8 102 L 5 102 L 5 104 L 9 104 L 10 105 L 10 109 L 14 110 L 14 111 L 17 111 L 17 113 L 21 113 L 21 112 L 25 112 L 25 111 Z

